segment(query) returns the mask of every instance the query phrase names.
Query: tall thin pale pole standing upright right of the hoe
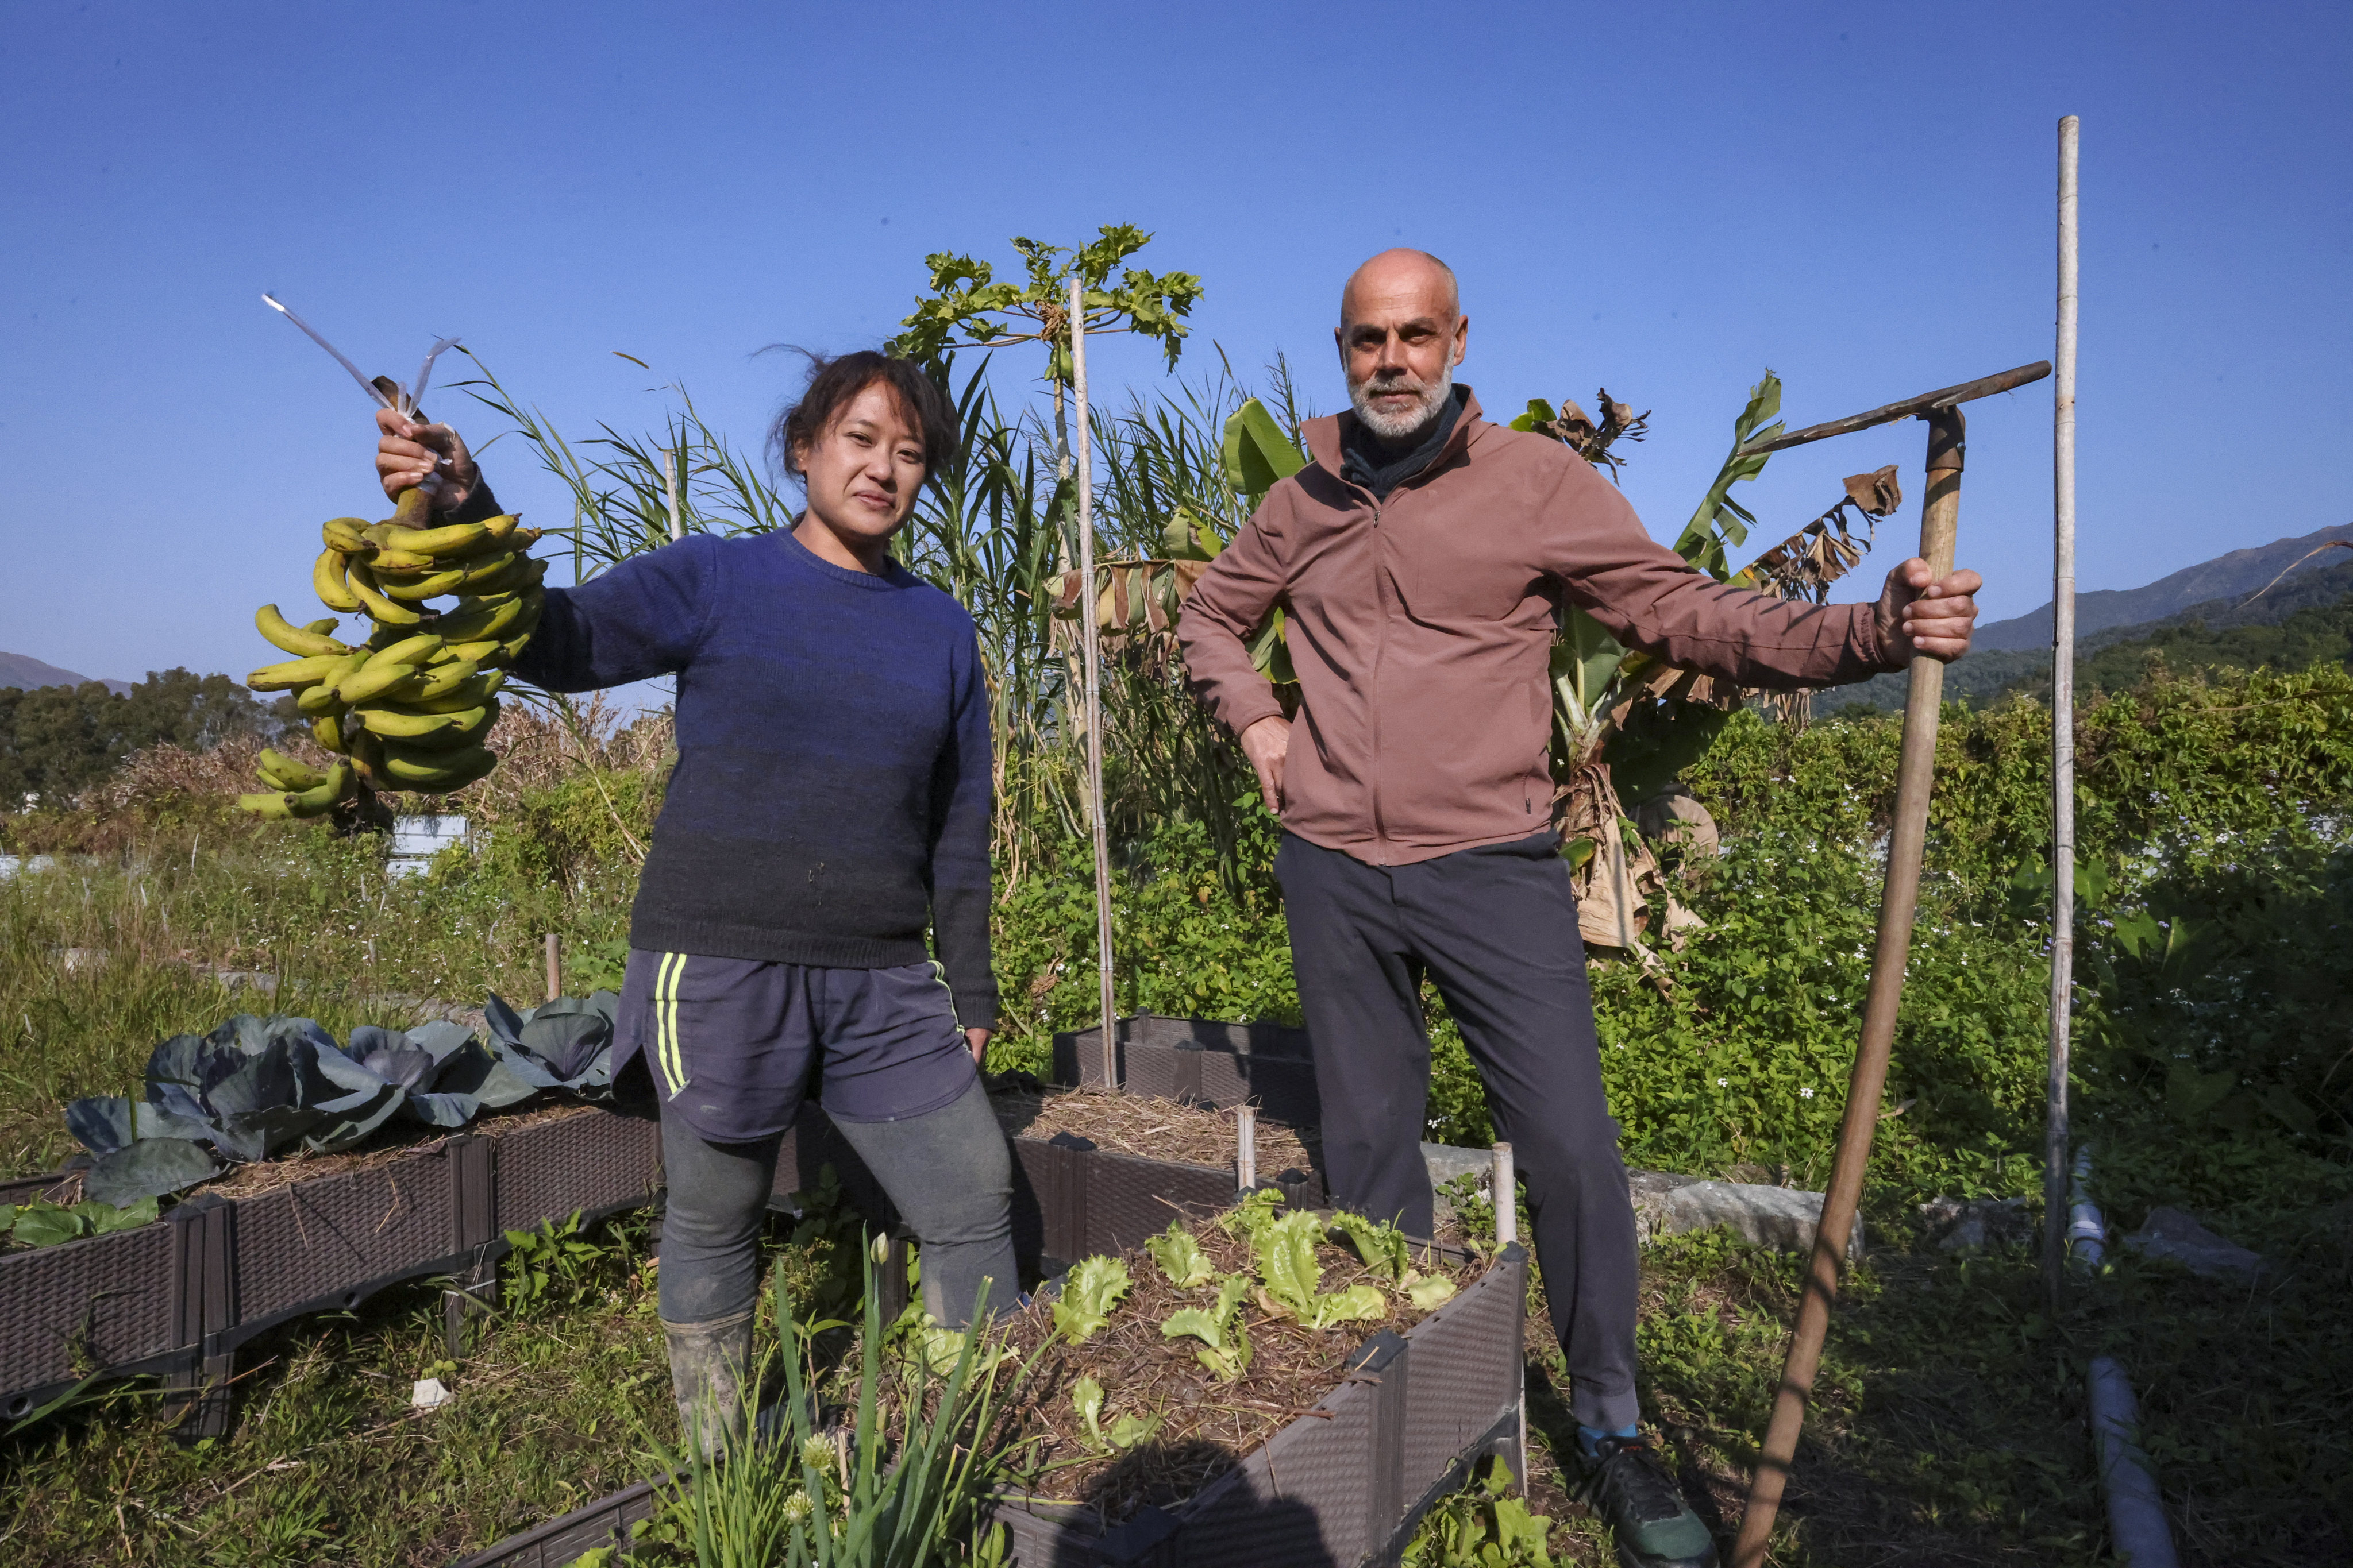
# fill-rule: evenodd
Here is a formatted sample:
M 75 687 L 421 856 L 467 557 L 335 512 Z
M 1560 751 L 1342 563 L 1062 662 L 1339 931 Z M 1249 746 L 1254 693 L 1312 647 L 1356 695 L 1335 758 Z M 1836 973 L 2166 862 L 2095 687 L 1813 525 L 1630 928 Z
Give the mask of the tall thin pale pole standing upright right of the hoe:
M 2066 1276 L 2068 1009 L 2075 994 L 2075 132 L 2059 122 L 2059 353 L 2052 381 L 2052 1060 L 2042 1124 L 2042 1286 Z

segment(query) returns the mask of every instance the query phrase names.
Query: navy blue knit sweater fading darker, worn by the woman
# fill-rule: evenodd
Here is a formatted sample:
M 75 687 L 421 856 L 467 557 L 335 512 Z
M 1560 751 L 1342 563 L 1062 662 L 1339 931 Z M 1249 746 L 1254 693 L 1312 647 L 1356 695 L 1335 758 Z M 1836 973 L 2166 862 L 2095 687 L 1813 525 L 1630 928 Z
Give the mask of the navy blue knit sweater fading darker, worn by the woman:
M 678 677 L 633 947 L 892 969 L 929 957 L 929 926 L 955 1018 L 995 1025 L 988 696 L 953 597 L 791 534 L 699 534 L 551 588 L 513 675 Z

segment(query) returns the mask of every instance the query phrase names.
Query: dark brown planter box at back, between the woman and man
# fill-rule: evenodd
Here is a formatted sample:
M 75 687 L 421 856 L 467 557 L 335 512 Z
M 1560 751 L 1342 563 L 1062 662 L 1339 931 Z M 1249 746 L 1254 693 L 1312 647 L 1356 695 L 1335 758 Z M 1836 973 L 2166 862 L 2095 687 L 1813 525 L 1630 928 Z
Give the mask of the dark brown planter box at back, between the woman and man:
M 1118 1020 L 1120 1088 L 1165 1100 L 1257 1105 L 1275 1121 L 1318 1126 L 1308 1032 L 1280 1023 L 1205 1023 L 1139 1013 Z M 1104 1081 L 1104 1030 L 1054 1037 L 1056 1084 Z

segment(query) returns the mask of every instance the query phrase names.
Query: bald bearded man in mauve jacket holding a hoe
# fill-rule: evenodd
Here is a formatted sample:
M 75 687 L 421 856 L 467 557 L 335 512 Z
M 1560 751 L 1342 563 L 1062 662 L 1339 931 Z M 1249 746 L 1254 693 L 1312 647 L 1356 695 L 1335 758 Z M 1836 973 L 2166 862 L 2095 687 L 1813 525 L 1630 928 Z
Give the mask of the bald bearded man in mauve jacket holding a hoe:
M 1551 832 L 1546 661 L 1562 602 L 1635 649 L 1744 686 L 1833 686 L 1969 649 L 1974 571 L 1920 559 L 1878 604 L 1784 604 L 1692 571 L 1560 442 L 1480 418 L 1454 273 L 1384 252 L 1341 294 L 1351 414 L 1306 425 L 1186 599 L 1193 686 L 1282 816 L 1275 875 L 1315 1048 L 1337 1204 L 1431 1234 L 1421 1164 L 1438 983 L 1527 1180 L 1586 1495 L 1628 1563 L 1708 1563 L 1647 1453 L 1633 1387 L 1635 1229 L 1593 999 Z M 1299 726 L 1242 639 L 1282 607 Z

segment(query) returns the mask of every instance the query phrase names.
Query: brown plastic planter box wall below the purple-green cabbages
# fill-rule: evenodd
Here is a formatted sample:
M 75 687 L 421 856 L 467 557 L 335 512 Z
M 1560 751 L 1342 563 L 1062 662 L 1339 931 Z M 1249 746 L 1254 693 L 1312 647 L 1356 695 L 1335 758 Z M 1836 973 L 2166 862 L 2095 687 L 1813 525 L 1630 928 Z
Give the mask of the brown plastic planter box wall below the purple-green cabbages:
M 602 1110 L 447 1138 L 365 1171 L 245 1199 L 198 1194 L 155 1225 L 0 1255 L 0 1415 L 73 1387 L 75 1363 L 219 1382 L 235 1349 L 308 1312 L 452 1274 L 480 1291 L 504 1229 L 605 1218 L 656 1182 L 652 1121 Z M 78 1354 L 80 1352 L 80 1354 Z M 205 1425 L 219 1427 L 216 1401 Z

